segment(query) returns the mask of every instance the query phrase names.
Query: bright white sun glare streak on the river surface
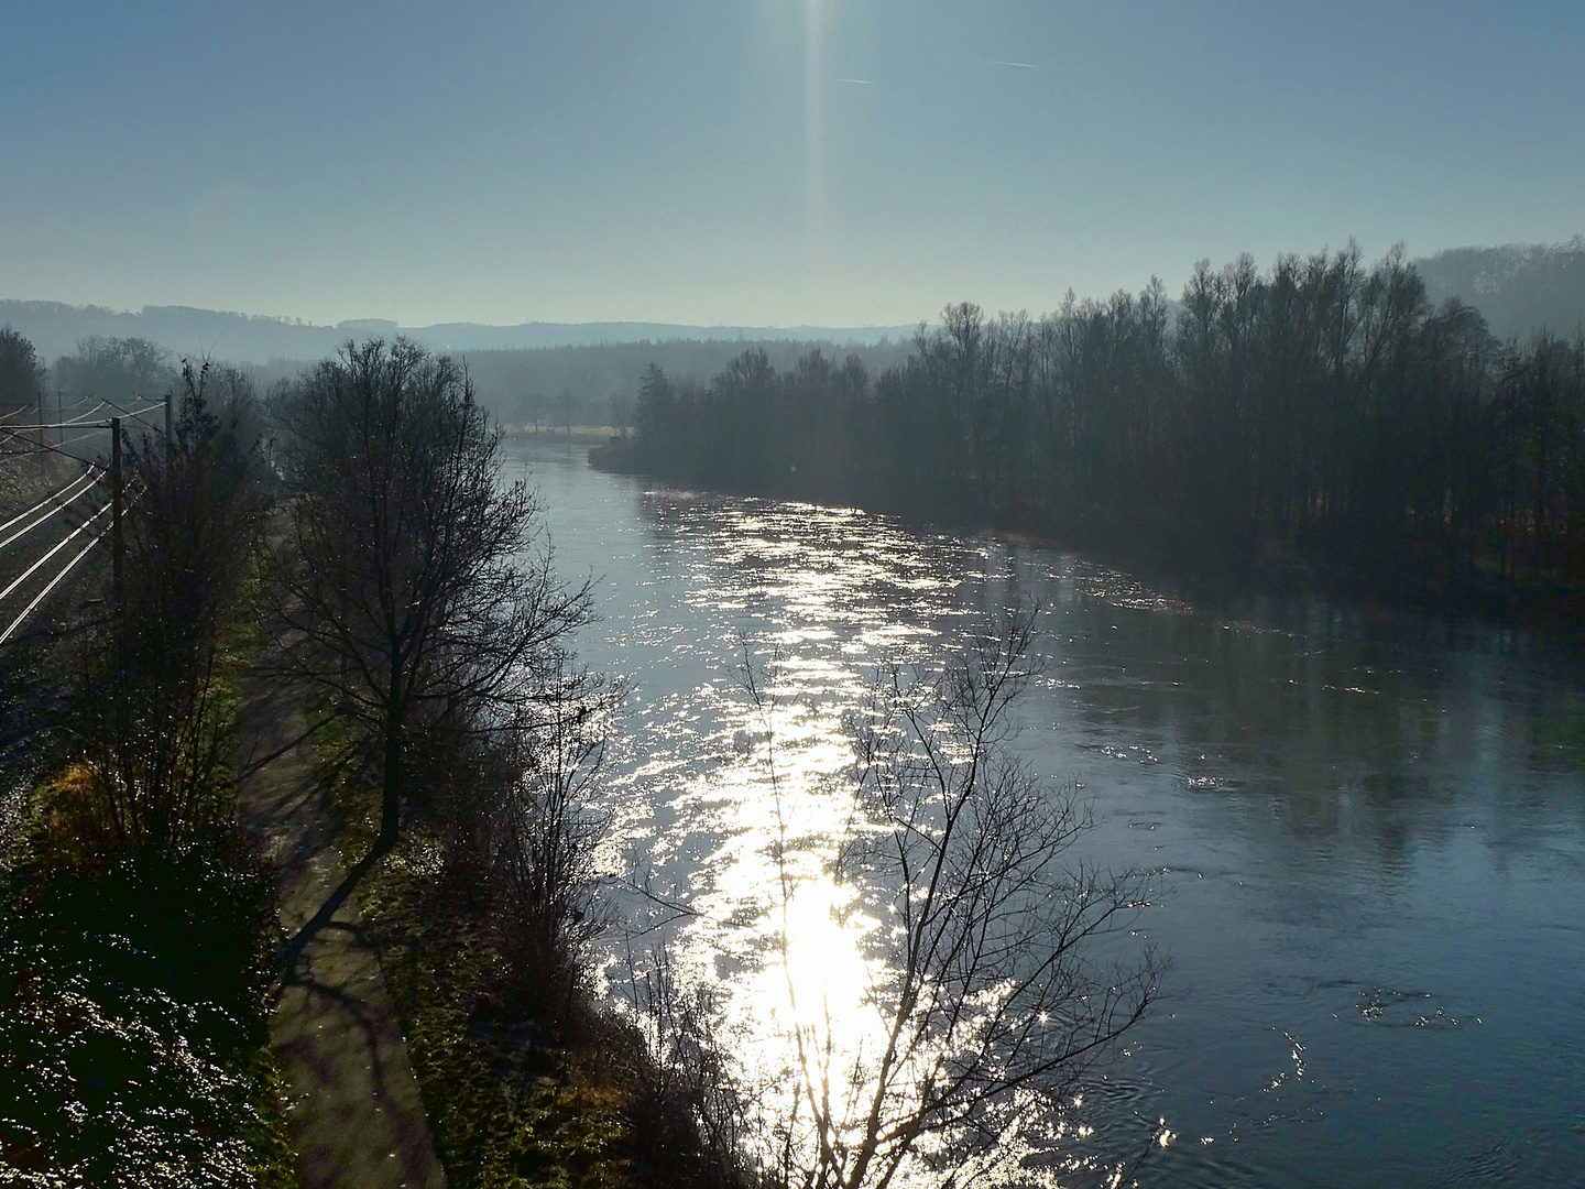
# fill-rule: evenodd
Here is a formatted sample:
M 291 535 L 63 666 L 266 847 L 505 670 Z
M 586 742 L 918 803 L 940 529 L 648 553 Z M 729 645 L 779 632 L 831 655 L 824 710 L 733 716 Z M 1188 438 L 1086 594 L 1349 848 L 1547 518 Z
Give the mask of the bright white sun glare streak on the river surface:
M 751 626 L 734 633 L 732 661 L 713 628 L 694 642 L 661 629 L 685 661 L 710 659 L 642 707 L 650 731 L 629 780 L 664 782 L 664 799 L 653 820 L 620 807 L 617 816 L 655 893 L 686 900 L 686 912 L 659 905 L 645 921 L 667 937 L 669 977 L 708 1004 L 708 1032 L 745 1091 L 748 1145 L 761 1159 L 792 1153 L 802 1164 L 823 1143 L 856 1151 L 875 1103 L 902 1118 L 908 1094 L 938 1075 L 941 1053 L 927 1037 L 881 1073 L 897 918 L 864 861 L 843 862 L 845 843 L 873 826 L 854 797 L 843 715 L 867 704 L 873 664 L 926 659 L 932 634 L 972 607 L 934 564 L 892 547 L 891 528 L 856 533 L 851 510 L 750 503 L 715 515 L 686 525 L 713 561 L 686 566 L 678 582 L 688 606 L 729 604 Z M 983 997 L 965 1002 L 970 1015 L 983 1007 Z M 980 1183 L 1002 1184 L 999 1170 L 1021 1154 L 1083 1138 L 1070 1130 L 1079 1121 L 1049 1113 L 1033 1092 L 1016 1116 L 1018 1134 L 968 1170 Z M 937 1186 L 940 1143 L 921 1137 L 892 1184 Z M 1070 1157 L 1097 1159 L 1087 1149 Z M 1021 1173 L 1016 1183 L 1037 1181 Z

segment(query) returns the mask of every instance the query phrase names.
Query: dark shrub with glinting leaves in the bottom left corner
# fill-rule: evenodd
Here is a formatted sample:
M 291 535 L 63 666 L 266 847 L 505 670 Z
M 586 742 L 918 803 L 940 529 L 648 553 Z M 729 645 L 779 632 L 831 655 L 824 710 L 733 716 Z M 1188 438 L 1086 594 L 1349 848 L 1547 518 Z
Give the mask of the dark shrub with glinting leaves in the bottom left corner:
M 22 1184 L 254 1184 L 269 881 L 235 839 L 24 869 L 0 916 L 0 1160 Z

